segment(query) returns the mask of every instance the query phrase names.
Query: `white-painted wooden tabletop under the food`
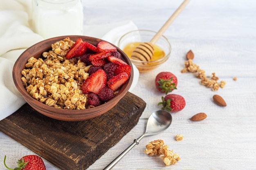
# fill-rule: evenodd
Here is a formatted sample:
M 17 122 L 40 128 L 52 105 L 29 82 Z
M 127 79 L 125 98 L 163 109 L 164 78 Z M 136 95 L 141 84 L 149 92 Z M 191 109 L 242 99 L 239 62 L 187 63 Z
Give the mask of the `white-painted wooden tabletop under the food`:
M 132 20 L 139 29 L 158 31 L 182 0 L 83 0 L 84 24 L 107 24 Z M 145 137 L 113 169 L 172 170 L 255 170 L 256 169 L 256 1 L 254 0 L 191 0 L 170 28 L 164 33 L 172 45 L 171 57 L 161 67 L 141 73 L 132 93 L 147 103 L 139 123 L 121 141 L 88 169 L 103 169 L 139 137 L 147 117 L 160 109 L 160 94 L 154 79 L 161 71 L 170 71 L 178 78 L 177 89 L 186 107 L 172 113 L 173 123 L 166 131 Z M 195 54 L 193 62 L 206 75 L 216 73 L 227 82 L 225 88 L 211 91 L 200 85 L 191 73 L 181 73 L 186 52 Z M 237 81 L 233 80 L 237 77 Z M 213 103 L 212 96 L 221 95 L 227 107 Z M 189 118 L 204 112 L 207 119 L 192 122 Z M 175 141 L 175 135 L 184 136 Z M 148 157 L 143 150 L 148 142 L 164 140 L 181 160 L 166 167 L 159 157 Z M 31 150 L 0 132 L 0 170 L 5 170 L 4 155 L 9 167 Z M 47 170 L 57 170 L 44 160 Z

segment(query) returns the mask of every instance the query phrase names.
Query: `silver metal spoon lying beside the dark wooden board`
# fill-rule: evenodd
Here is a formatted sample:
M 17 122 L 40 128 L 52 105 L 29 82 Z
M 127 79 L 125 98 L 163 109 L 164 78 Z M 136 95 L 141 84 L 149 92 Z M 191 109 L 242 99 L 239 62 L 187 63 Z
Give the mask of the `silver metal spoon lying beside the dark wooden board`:
M 138 139 L 134 139 L 133 143 L 122 152 L 116 159 L 114 159 L 106 168 L 103 170 L 111 170 L 135 145 L 139 144 L 139 141 L 149 135 L 155 135 L 159 132 L 166 130 L 172 122 L 171 113 L 165 110 L 157 110 L 153 112 L 149 117 L 146 125 L 146 129 L 143 135 Z

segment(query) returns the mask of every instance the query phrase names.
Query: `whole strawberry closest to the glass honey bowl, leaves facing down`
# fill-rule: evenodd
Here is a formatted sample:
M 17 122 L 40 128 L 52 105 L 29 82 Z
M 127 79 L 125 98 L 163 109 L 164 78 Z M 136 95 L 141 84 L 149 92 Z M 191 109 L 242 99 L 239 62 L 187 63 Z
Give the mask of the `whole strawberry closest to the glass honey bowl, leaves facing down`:
M 157 90 L 166 95 L 169 92 L 172 92 L 174 89 L 177 89 L 177 77 L 171 72 L 161 72 L 155 77 L 155 86 Z

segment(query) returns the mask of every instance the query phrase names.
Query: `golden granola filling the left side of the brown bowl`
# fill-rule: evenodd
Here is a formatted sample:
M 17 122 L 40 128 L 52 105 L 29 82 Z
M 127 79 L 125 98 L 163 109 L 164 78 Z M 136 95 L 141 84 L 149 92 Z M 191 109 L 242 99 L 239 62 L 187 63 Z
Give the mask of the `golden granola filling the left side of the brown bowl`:
M 52 44 L 52 51 L 44 52 L 43 58 L 29 58 L 21 71 L 27 92 L 39 102 L 55 108 L 85 109 L 87 95 L 81 85 L 88 78 L 91 66 L 80 60 L 66 60 L 67 49 L 74 42 L 69 38 Z

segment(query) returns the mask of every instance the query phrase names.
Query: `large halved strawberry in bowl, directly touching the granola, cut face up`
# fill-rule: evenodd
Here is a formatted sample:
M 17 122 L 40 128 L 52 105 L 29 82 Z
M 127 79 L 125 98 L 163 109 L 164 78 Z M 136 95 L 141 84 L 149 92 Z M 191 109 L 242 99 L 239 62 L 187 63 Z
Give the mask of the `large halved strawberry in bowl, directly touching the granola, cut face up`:
M 107 75 L 102 69 L 92 73 L 88 79 L 86 79 L 81 86 L 81 90 L 85 94 L 88 92 L 99 94 L 102 88 L 104 88 L 107 84 Z

